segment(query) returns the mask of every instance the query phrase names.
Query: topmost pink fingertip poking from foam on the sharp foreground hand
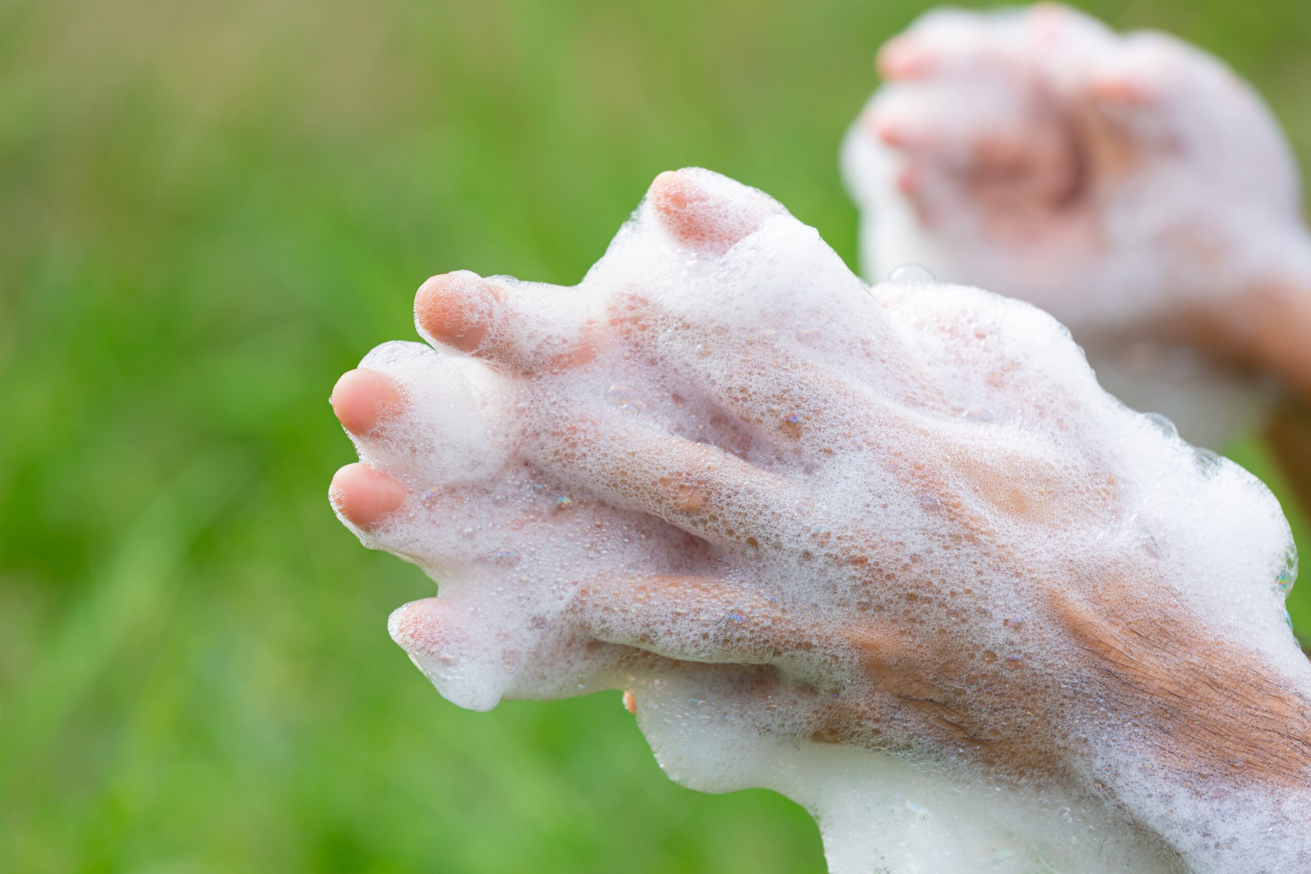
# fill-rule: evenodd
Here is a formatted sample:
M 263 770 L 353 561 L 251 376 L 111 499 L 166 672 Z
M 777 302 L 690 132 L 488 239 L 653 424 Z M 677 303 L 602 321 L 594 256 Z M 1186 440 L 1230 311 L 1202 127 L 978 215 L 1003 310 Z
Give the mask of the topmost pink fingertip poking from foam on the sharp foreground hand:
M 688 169 L 657 176 L 646 202 L 670 236 L 712 254 L 724 254 L 770 216 L 787 212 L 762 191 Z

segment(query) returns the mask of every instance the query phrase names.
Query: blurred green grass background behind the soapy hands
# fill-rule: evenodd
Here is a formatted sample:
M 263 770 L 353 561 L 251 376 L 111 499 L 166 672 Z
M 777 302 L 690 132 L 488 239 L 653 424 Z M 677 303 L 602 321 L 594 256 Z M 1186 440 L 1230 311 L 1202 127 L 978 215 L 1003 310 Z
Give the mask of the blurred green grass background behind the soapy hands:
M 442 701 L 384 630 L 430 583 L 328 510 L 326 398 L 425 276 L 576 282 L 667 168 L 850 258 L 838 140 L 920 8 L 0 3 L 0 870 L 822 870 L 617 694 Z M 1304 3 L 1088 8 L 1228 59 L 1307 164 Z

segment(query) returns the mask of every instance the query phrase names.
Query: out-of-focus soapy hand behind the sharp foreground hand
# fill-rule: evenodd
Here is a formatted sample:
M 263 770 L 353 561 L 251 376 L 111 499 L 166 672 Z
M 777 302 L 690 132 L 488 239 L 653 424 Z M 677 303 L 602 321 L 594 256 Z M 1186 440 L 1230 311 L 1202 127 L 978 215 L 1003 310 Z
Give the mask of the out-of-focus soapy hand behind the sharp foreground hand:
M 1297 166 L 1221 62 L 1041 4 L 928 13 L 878 68 L 843 152 L 867 274 L 916 261 L 1036 303 L 1190 439 L 1252 418 L 1249 383 L 1218 387 L 1235 372 L 1311 396 Z

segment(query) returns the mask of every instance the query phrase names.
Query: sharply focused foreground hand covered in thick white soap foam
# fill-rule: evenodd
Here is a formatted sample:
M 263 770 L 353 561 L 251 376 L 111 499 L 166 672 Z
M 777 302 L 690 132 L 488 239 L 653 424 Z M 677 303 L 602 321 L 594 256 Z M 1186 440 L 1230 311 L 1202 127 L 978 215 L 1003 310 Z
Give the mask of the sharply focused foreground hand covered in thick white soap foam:
M 333 502 L 439 580 L 391 628 L 452 701 L 628 689 L 671 776 L 798 799 L 836 871 L 1307 858 L 1287 524 L 1049 316 L 871 290 L 704 170 L 578 286 L 416 314 L 334 390 Z

